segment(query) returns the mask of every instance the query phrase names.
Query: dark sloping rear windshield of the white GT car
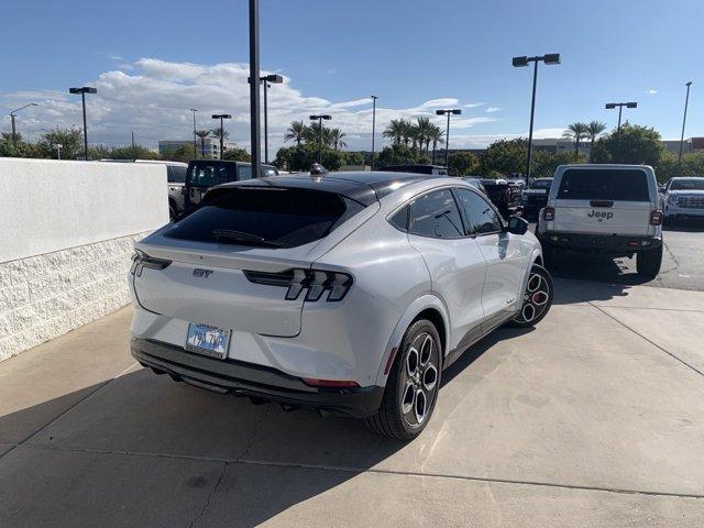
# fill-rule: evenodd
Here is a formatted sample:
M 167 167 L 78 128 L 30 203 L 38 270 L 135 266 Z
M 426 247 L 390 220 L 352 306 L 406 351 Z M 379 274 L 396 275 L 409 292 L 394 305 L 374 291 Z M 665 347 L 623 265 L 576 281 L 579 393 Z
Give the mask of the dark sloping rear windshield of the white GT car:
M 295 248 L 327 237 L 362 209 L 364 206 L 333 193 L 234 187 L 206 198 L 200 209 L 174 223 L 164 237 L 221 244 Z

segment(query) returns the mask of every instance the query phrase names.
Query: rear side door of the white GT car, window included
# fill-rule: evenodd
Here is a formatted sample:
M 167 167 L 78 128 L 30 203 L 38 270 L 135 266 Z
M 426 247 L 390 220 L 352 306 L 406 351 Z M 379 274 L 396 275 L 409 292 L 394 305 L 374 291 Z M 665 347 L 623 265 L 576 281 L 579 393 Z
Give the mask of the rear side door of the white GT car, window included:
M 448 308 L 449 349 L 479 337 L 484 319 L 482 287 L 486 262 L 476 240 L 466 234 L 450 188 L 411 200 L 408 240 L 426 261 L 432 290 Z

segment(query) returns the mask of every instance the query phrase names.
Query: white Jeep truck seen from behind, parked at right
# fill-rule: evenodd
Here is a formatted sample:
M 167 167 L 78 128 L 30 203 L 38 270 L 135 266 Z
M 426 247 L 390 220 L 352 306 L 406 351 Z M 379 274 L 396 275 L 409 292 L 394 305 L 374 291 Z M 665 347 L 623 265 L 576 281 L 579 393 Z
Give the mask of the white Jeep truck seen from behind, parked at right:
M 637 255 L 642 277 L 662 262 L 658 183 L 647 165 L 561 165 L 537 227 L 543 258 L 556 250 Z

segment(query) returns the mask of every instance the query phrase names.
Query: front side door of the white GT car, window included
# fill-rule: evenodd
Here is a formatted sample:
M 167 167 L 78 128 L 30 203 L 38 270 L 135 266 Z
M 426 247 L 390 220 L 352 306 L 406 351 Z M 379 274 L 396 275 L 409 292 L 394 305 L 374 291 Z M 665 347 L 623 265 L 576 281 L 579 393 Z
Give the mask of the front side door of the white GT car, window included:
M 482 289 L 482 306 L 487 327 L 515 311 L 519 302 L 526 270 L 526 255 L 520 237 L 504 231 L 496 210 L 490 202 L 468 188 L 455 189 L 470 234 L 486 261 L 486 279 Z

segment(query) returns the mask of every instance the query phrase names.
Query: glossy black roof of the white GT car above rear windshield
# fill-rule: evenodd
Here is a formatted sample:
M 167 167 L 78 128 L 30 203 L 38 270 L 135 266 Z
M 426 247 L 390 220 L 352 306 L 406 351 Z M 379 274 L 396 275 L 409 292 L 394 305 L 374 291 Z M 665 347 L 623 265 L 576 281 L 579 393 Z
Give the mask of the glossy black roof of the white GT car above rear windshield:
M 266 186 L 315 189 L 336 193 L 359 201 L 364 206 L 370 206 L 403 187 L 436 178 L 447 178 L 447 176 L 418 173 L 387 173 L 384 170 L 326 173 L 320 177 L 301 173 L 232 182 L 219 185 L 217 188 Z

